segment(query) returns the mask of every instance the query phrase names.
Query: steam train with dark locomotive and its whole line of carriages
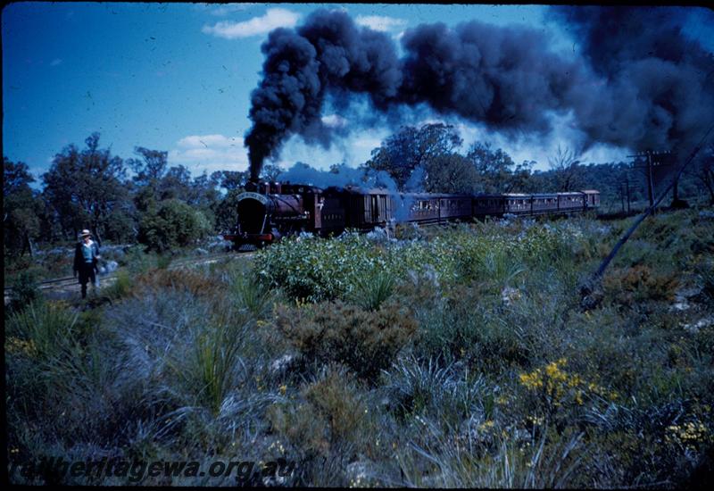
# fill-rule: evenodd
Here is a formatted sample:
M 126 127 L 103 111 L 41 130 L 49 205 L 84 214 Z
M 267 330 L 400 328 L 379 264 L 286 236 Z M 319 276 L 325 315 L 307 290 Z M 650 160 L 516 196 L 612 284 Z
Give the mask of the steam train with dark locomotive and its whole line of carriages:
M 442 195 L 392 193 L 362 187 L 251 184 L 237 196 L 236 228 L 223 235 L 235 248 L 266 245 L 301 231 L 328 236 L 345 229 L 367 231 L 394 222 L 419 224 L 486 216 L 584 212 L 600 205 L 600 192 L 538 195 Z

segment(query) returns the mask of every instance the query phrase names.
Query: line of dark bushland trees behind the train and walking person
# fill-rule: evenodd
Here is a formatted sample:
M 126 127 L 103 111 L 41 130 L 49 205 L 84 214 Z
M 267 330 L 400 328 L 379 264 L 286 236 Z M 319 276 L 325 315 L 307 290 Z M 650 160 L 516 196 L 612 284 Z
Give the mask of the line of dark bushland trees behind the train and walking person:
M 627 194 L 635 202 L 647 197 L 643 173 L 627 162 L 585 165 L 577 151 L 559 147 L 549 159 L 549 171 L 534 171 L 535 161 L 514 162 L 489 143 L 462 146 L 462 138 L 449 125 L 403 127 L 375 148 L 358 170 L 341 163 L 319 171 L 296 162 L 288 171 L 266 165 L 262 177 L 295 178 L 310 171 L 309 179 L 321 181 L 315 185 L 369 182 L 400 191 L 444 193 L 596 188 L 606 210 L 624 207 Z M 704 196 L 714 203 L 712 162 L 710 145 L 680 182 L 680 197 Z M 25 162 L 7 157 L 3 167 L 6 257 L 32 254 L 40 244 L 74 240 L 86 228 L 100 241 L 139 243 L 157 252 L 189 245 L 233 226 L 236 197 L 248 179 L 247 171 L 230 170 L 192 176 L 183 165 L 170 166 L 168 152 L 143 146 L 122 158 L 100 145 L 98 133 L 87 137 L 84 148 L 64 147 L 41 176 L 33 176 Z

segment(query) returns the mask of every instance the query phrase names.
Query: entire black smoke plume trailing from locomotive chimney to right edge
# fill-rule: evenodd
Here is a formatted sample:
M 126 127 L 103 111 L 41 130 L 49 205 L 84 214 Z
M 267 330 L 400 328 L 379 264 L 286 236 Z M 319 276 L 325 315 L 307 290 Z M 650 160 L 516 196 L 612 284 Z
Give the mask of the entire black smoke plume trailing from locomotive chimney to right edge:
M 290 136 L 327 146 L 320 119 L 329 96 L 346 106 L 366 94 L 378 112 L 426 104 L 433 111 L 519 135 L 546 134 L 571 114 L 585 146 L 676 146 L 714 113 L 711 54 L 685 38 L 685 11 L 559 7 L 582 54 L 556 54 L 540 30 L 478 21 L 408 29 L 399 59 L 385 34 L 341 11 L 313 12 L 276 29 L 262 46 L 263 79 L 245 137 L 251 176 Z M 359 121 L 350 121 L 357 124 Z

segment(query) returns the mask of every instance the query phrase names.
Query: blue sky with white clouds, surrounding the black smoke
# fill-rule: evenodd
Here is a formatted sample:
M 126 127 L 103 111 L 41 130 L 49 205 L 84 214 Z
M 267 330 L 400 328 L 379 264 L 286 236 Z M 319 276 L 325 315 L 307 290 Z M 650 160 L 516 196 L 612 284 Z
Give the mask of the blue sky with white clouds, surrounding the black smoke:
M 2 21 L 4 155 L 28 163 L 38 177 L 64 146 L 84 146 L 98 131 L 101 145 L 123 158 L 145 146 L 168 151 L 171 165 L 184 164 L 194 175 L 244 171 L 243 137 L 250 127 L 250 93 L 260 79 L 260 46 L 270 29 L 295 26 L 319 7 L 345 8 L 395 42 L 422 22 L 471 19 L 544 29 L 555 50 L 571 49 L 574 42 L 544 20 L 539 5 L 15 3 L 4 7 Z M 705 19 L 693 14 L 689 28 L 712 49 L 714 28 Z M 436 120 L 443 121 L 421 114 L 404 122 Z M 537 161 L 540 169 L 547 168 L 555 146 L 573 137 L 568 121 L 560 121 L 551 138 L 520 142 L 446 122 L 457 125 L 467 145 L 484 138 L 517 162 Z M 356 166 L 389 134 L 386 127 L 365 129 L 328 150 L 294 138 L 279 163 Z M 584 160 L 626 154 L 596 146 Z

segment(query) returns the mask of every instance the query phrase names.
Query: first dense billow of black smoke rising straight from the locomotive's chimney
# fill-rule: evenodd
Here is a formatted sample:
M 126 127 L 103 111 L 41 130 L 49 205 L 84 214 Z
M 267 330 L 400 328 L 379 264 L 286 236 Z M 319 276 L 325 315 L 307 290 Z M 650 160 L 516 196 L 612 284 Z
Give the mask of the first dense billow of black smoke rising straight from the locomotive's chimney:
M 328 143 L 329 129 L 320 119 L 328 93 L 343 101 L 367 93 L 372 104 L 385 108 L 401 83 L 389 37 L 359 28 L 345 12 L 320 10 L 298 29 L 276 29 L 262 52 L 264 78 L 252 94 L 253 128 L 245 137 L 252 179 L 290 135 Z

